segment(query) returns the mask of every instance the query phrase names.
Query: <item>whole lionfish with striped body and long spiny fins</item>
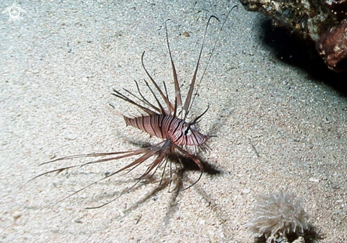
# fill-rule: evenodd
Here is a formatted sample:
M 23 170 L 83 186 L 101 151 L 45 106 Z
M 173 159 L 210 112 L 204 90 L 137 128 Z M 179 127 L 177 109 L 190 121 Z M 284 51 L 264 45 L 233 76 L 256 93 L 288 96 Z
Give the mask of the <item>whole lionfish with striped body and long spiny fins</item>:
M 230 13 L 230 12 L 229 12 Z M 229 14 L 228 13 L 228 14 Z M 167 40 L 167 48 L 169 51 L 170 55 L 170 62 L 172 66 L 172 73 L 173 73 L 173 81 L 175 84 L 175 101 L 170 101 L 170 98 L 167 94 L 167 87 L 165 85 L 165 82 L 163 82 L 164 86 L 164 91 L 163 89 L 158 86 L 158 84 L 155 82 L 153 77 L 150 75 L 148 70 L 145 68 L 145 64 L 143 62 L 143 57 L 145 55 L 145 52 L 143 52 L 141 56 L 141 64 L 143 66 L 143 69 L 145 70 L 145 73 L 148 75 L 150 82 L 153 84 L 155 89 L 151 88 L 150 84 L 148 84 L 148 81 L 145 81 L 145 85 L 148 87 L 148 90 L 150 93 L 153 95 L 153 98 L 155 99 L 155 103 L 151 103 L 148 101 L 148 98 L 145 98 L 143 94 L 141 93 L 138 82 L 135 81 L 137 90 L 138 90 L 138 95 L 133 94 L 131 91 L 128 91 L 127 89 L 123 89 L 128 96 L 125 94 L 122 94 L 121 91 L 117 91 L 114 89 L 114 93 L 112 93 L 114 96 L 117 98 L 121 98 L 123 101 L 126 101 L 128 103 L 131 103 L 132 105 L 138 107 L 143 111 L 144 114 L 136 117 L 128 117 L 126 115 L 123 115 L 123 118 L 126 122 L 126 125 L 132 126 L 133 128 L 138 128 L 139 130 L 142 130 L 143 132 L 148 133 L 151 137 L 155 136 L 158 138 L 163 139 L 162 142 L 159 142 L 158 144 L 151 145 L 149 147 L 141 148 L 141 149 L 136 149 L 136 150 L 130 150 L 126 152 L 106 152 L 106 153 L 94 153 L 94 154 L 77 154 L 77 155 L 71 155 L 67 157 L 60 157 L 58 159 L 53 159 L 50 160 L 49 162 L 45 162 L 41 165 L 44 164 L 50 164 L 53 162 L 57 161 L 62 161 L 66 159 L 77 159 L 77 158 L 84 158 L 84 157 L 106 157 L 106 158 L 101 158 L 94 160 L 92 162 L 86 162 L 83 164 L 78 164 L 78 165 L 72 165 L 72 166 L 65 166 L 59 169 L 54 169 L 51 171 L 46 171 L 43 174 L 39 174 L 38 176 L 35 176 L 33 179 L 36 179 L 40 176 L 43 176 L 45 174 L 50 174 L 53 172 L 60 173 L 61 171 L 65 171 L 67 169 L 72 169 L 76 167 L 82 167 L 82 166 L 87 166 L 89 164 L 97 164 L 101 162 L 109 162 L 112 160 L 116 159 L 122 159 L 126 157 L 133 157 L 136 155 L 141 155 L 137 159 L 135 159 L 132 163 L 124 166 L 123 168 L 111 172 L 109 174 L 106 174 L 102 179 L 99 179 L 98 181 L 94 181 L 93 183 L 90 183 L 87 186 L 84 186 L 83 188 L 71 193 L 69 196 L 66 196 L 62 200 L 65 200 L 66 198 L 69 198 L 70 196 L 75 195 L 76 193 L 79 193 L 79 191 L 82 191 L 90 186 L 93 186 L 94 184 L 98 183 L 99 181 L 103 181 L 104 179 L 107 179 L 111 176 L 114 176 L 115 174 L 118 174 L 121 171 L 131 171 L 135 169 L 138 165 L 142 164 L 143 162 L 147 161 L 148 159 L 154 157 L 153 162 L 148 166 L 148 168 L 145 170 L 145 172 L 140 176 L 138 181 L 133 184 L 130 188 L 126 188 L 119 196 L 116 196 L 116 198 L 109 200 L 108 202 L 99 205 L 97 207 L 92 207 L 92 208 L 101 208 L 104 205 L 107 205 L 120 196 L 122 196 L 124 193 L 127 191 L 131 190 L 138 182 L 141 181 L 141 179 L 144 179 L 146 176 L 152 177 L 157 169 L 160 166 L 164 166 L 163 168 L 163 174 L 165 171 L 165 167 L 167 166 L 167 162 L 172 160 L 172 155 L 175 154 L 175 152 L 179 152 L 184 154 L 185 157 L 188 157 L 191 159 L 197 166 L 199 167 L 200 175 L 199 178 L 194 181 L 190 186 L 187 188 L 193 186 L 195 183 L 199 181 L 202 177 L 202 173 L 204 171 L 204 166 L 202 162 L 200 162 L 199 158 L 197 157 L 197 152 L 201 150 L 205 150 L 205 143 L 209 139 L 209 137 L 213 137 L 211 135 L 204 135 L 202 132 L 199 132 L 197 129 L 196 125 L 199 123 L 200 118 L 206 113 L 206 111 L 209 108 L 206 108 L 206 111 L 204 111 L 201 115 L 198 115 L 196 118 L 192 120 L 187 120 L 187 115 L 191 111 L 192 108 L 192 103 L 194 101 L 195 96 L 197 95 L 197 91 L 194 93 L 194 86 L 197 80 L 197 72 L 199 69 L 199 64 L 200 64 L 200 59 L 202 57 L 202 50 L 204 48 L 204 40 L 206 36 L 206 30 L 207 27 L 209 26 L 209 23 L 211 19 L 214 18 L 217 21 L 219 21 L 216 16 L 210 16 L 209 20 L 206 23 L 206 28 L 204 30 L 204 39 L 202 41 L 202 47 L 199 52 L 199 57 L 197 59 L 197 65 L 194 69 L 194 74 L 192 77 L 192 81 L 189 86 L 189 91 L 187 93 L 187 97 L 185 98 L 185 101 L 182 102 L 182 96 L 181 96 L 181 89 L 180 89 L 180 84 L 178 81 L 177 77 L 177 72 L 175 68 L 175 64 L 172 59 L 172 53 L 170 50 L 170 45 L 169 45 L 169 40 L 168 40 L 168 35 L 167 35 L 167 21 L 165 21 L 165 30 L 166 30 L 166 40 Z M 224 21 L 225 23 L 225 21 Z M 221 29 L 219 30 L 219 35 L 221 33 L 221 30 L 224 26 L 224 23 L 221 26 Z M 211 55 L 214 51 L 214 48 L 216 46 L 216 42 L 214 43 L 213 49 L 211 51 Z M 211 59 L 211 55 L 209 57 L 209 61 Z M 204 72 L 202 73 L 202 78 L 204 77 L 204 74 L 206 72 L 206 69 L 208 67 L 209 62 L 207 62 L 206 67 L 204 69 Z M 200 79 L 200 82 L 202 81 L 202 78 Z M 155 94 L 155 90 L 159 94 Z M 160 98 L 163 100 L 163 103 L 160 102 Z M 191 152 L 187 151 L 185 148 L 186 147 L 193 147 L 194 148 L 194 154 Z M 108 156 L 108 157 L 107 157 Z M 111 156 L 111 157 L 109 157 Z M 127 172 L 128 172 L 127 171 Z M 171 173 L 171 167 L 170 167 L 170 173 Z M 163 179 L 163 174 L 162 174 L 162 179 Z M 32 181 L 31 179 L 30 181 Z M 161 183 L 161 181 L 160 181 Z M 187 189 L 186 188 L 186 189 Z M 62 201 L 60 200 L 60 201 Z

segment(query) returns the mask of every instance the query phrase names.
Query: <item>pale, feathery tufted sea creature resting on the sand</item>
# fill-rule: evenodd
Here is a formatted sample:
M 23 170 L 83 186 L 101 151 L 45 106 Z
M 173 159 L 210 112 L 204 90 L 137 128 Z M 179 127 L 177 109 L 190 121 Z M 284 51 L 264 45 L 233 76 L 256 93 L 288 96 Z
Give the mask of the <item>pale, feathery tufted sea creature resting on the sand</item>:
M 255 237 L 297 237 L 307 230 L 309 215 L 302 207 L 302 200 L 294 193 L 280 191 L 278 193 L 260 194 L 253 208 L 250 222 L 246 226 Z

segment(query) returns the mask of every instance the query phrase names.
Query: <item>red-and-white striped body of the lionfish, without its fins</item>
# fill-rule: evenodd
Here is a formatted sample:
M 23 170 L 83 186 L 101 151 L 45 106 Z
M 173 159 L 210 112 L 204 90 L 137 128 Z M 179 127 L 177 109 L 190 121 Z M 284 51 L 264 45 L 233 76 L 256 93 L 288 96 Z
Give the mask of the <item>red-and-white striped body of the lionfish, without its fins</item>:
M 207 138 L 194 125 L 172 115 L 143 115 L 137 118 L 124 116 L 124 120 L 126 125 L 155 137 L 170 139 L 175 145 L 202 146 Z

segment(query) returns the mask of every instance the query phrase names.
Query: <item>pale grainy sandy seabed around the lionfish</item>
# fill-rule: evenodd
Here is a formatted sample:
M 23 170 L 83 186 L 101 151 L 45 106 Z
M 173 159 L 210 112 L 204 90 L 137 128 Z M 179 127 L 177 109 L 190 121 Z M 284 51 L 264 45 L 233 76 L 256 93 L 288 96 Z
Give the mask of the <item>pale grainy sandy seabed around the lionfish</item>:
M 27 13 L 16 23 L 1 14 L 0 242 L 253 242 L 242 225 L 256 196 L 280 189 L 303 199 L 324 237 L 315 242 L 346 242 L 346 97 L 326 84 L 331 80 L 277 59 L 260 38 L 263 16 L 236 0 L 84 2 L 21 1 Z M 1 2 L 1 11 L 11 4 Z M 168 187 L 150 195 L 154 181 L 97 210 L 84 208 L 110 200 L 133 175 L 57 202 L 129 160 L 23 186 L 56 168 L 38 167 L 53 157 L 148 142 L 125 128 L 118 112 L 136 109 L 111 96 L 112 88 L 135 91 L 133 79 L 147 79 L 144 50 L 153 77 L 172 85 L 168 18 L 172 54 L 187 87 L 207 18 L 224 19 L 234 4 L 239 8 L 221 33 L 192 111 L 210 106 L 200 129 L 218 137 L 201 155 L 219 174 L 205 173 L 178 195 Z M 219 26 L 209 28 L 202 67 Z M 194 180 L 199 173 L 185 172 L 184 184 L 187 176 Z

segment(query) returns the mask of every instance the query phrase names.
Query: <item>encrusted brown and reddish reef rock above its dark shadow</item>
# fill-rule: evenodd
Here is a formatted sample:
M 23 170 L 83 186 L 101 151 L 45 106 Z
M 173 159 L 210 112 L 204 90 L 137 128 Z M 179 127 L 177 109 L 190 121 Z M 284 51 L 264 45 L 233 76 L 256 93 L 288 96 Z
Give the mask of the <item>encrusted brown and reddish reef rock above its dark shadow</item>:
M 326 65 L 347 71 L 347 0 L 240 0 L 299 37 L 313 40 Z

